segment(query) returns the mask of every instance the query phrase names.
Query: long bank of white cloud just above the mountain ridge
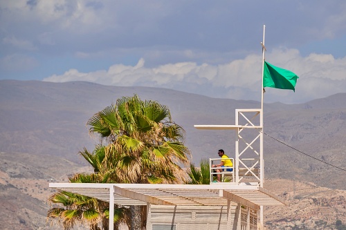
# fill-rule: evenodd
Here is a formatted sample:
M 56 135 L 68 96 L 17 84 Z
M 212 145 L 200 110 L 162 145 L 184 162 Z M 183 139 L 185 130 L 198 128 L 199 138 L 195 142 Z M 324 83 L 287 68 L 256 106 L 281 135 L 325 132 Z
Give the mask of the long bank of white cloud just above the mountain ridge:
M 311 54 L 301 57 L 298 50 L 277 49 L 266 55 L 275 66 L 292 70 L 299 75 L 296 92 L 267 89 L 266 102 L 306 102 L 346 92 L 346 57 Z M 90 73 L 69 70 L 63 75 L 47 77 L 47 82 L 88 81 L 114 86 L 154 86 L 185 90 L 210 97 L 260 100 L 262 56 L 249 55 L 228 64 L 198 65 L 194 62 L 145 67 L 144 59 L 136 66 L 116 64 L 109 69 Z M 206 90 L 208 88 L 208 90 Z

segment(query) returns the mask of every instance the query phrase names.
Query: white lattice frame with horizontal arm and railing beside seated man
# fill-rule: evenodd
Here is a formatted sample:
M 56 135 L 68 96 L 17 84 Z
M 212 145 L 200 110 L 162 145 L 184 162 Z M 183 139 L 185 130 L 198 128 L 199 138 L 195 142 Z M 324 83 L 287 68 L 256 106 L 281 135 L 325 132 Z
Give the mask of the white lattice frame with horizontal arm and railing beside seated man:
M 263 160 L 263 111 L 261 108 L 245 108 L 235 110 L 235 125 L 195 125 L 199 129 L 233 129 L 236 131 L 235 158 L 233 160 L 233 182 L 263 186 L 264 160 Z M 216 160 L 216 158 L 210 159 Z M 217 160 L 220 160 L 219 158 Z M 210 163 L 210 182 L 212 173 Z

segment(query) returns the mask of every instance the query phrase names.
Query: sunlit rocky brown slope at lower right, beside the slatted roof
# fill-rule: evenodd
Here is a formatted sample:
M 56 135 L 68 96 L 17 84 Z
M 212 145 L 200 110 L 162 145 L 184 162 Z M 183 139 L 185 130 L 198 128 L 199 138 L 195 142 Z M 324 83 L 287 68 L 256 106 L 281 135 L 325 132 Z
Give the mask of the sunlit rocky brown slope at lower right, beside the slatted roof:
M 346 191 L 292 180 L 266 180 L 264 186 L 288 202 L 286 207 L 266 207 L 265 226 L 274 229 L 335 229 L 346 223 Z

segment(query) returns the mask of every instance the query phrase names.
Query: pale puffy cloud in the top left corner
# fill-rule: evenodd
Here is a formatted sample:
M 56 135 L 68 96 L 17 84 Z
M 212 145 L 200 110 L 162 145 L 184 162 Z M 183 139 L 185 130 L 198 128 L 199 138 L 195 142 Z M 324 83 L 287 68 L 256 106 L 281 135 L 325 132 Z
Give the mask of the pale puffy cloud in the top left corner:
M 99 30 L 102 27 L 102 1 L 84 0 L 17 0 L 1 1 L 0 8 L 8 19 L 27 23 L 36 21 L 41 25 L 51 25 L 73 33 Z M 100 14 L 100 15 L 98 15 Z M 37 25 L 38 26 L 38 25 Z

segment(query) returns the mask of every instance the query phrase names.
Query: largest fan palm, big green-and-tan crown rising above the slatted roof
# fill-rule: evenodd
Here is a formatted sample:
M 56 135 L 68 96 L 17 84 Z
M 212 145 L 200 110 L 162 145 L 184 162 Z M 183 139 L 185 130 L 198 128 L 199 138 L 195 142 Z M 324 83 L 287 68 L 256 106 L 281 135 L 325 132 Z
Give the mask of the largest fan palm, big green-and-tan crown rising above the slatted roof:
M 104 144 L 109 180 L 122 183 L 175 183 L 185 172 L 190 151 L 183 145 L 185 131 L 174 122 L 167 106 L 142 101 L 137 95 L 122 97 L 89 119 L 91 134 Z M 139 224 L 139 207 L 131 207 L 131 229 Z M 134 211 L 136 209 L 136 211 Z

